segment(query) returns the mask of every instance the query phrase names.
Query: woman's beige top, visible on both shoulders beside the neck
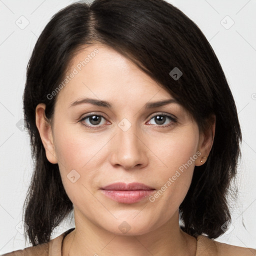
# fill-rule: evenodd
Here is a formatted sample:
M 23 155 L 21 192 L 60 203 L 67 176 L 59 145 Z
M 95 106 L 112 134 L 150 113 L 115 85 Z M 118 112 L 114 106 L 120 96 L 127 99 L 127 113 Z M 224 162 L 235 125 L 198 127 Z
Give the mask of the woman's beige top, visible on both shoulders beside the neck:
M 0 256 L 61 256 L 63 238 L 73 229 L 74 227 L 66 230 L 49 242 L 14 250 Z M 196 240 L 197 248 L 195 256 L 256 256 L 256 249 L 214 241 L 205 235 L 198 235 Z

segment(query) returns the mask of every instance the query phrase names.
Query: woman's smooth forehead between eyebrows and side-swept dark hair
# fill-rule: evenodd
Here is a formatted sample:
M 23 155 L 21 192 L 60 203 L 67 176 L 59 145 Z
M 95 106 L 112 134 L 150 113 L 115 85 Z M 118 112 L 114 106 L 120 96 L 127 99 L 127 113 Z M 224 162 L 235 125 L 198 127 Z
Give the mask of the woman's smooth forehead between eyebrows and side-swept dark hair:
M 131 60 L 109 46 L 86 45 L 71 59 L 57 101 L 68 103 L 82 96 L 123 103 L 167 99 L 171 95 Z

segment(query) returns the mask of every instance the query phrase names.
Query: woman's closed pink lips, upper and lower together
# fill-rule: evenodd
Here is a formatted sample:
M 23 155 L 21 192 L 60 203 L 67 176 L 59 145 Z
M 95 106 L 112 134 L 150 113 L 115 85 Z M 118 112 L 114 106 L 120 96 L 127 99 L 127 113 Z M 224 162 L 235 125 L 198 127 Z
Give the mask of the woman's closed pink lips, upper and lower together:
M 143 183 L 117 182 L 100 188 L 102 193 L 117 202 L 134 203 L 147 198 L 155 189 Z

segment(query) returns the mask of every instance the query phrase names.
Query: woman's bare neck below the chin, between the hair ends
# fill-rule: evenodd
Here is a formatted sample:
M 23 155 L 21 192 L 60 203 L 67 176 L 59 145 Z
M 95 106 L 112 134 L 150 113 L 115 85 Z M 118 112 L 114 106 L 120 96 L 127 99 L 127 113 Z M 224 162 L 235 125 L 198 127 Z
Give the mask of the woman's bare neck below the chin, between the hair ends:
M 75 229 L 63 240 L 62 256 L 195 255 L 196 238 L 180 229 L 178 212 L 164 225 L 140 235 L 109 232 L 76 213 L 74 219 Z

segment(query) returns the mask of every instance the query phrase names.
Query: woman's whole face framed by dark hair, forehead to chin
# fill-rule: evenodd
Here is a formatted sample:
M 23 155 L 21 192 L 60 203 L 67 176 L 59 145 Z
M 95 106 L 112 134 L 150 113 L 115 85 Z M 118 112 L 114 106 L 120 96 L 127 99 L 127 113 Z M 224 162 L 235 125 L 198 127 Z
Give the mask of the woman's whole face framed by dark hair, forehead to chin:
M 57 94 L 51 126 L 40 124 L 42 104 L 36 122 L 48 160 L 58 163 L 75 218 L 118 234 L 160 227 L 177 213 L 194 166 L 202 164 L 206 143 L 196 122 L 111 48 L 90 45 L 72 59 L 71 72 Z M 77 103 L 84 98 L 108 104 Z M 170 102 L 150 107 L 165 100 Z M 147 187 L 102 189 L 116 182 Z

